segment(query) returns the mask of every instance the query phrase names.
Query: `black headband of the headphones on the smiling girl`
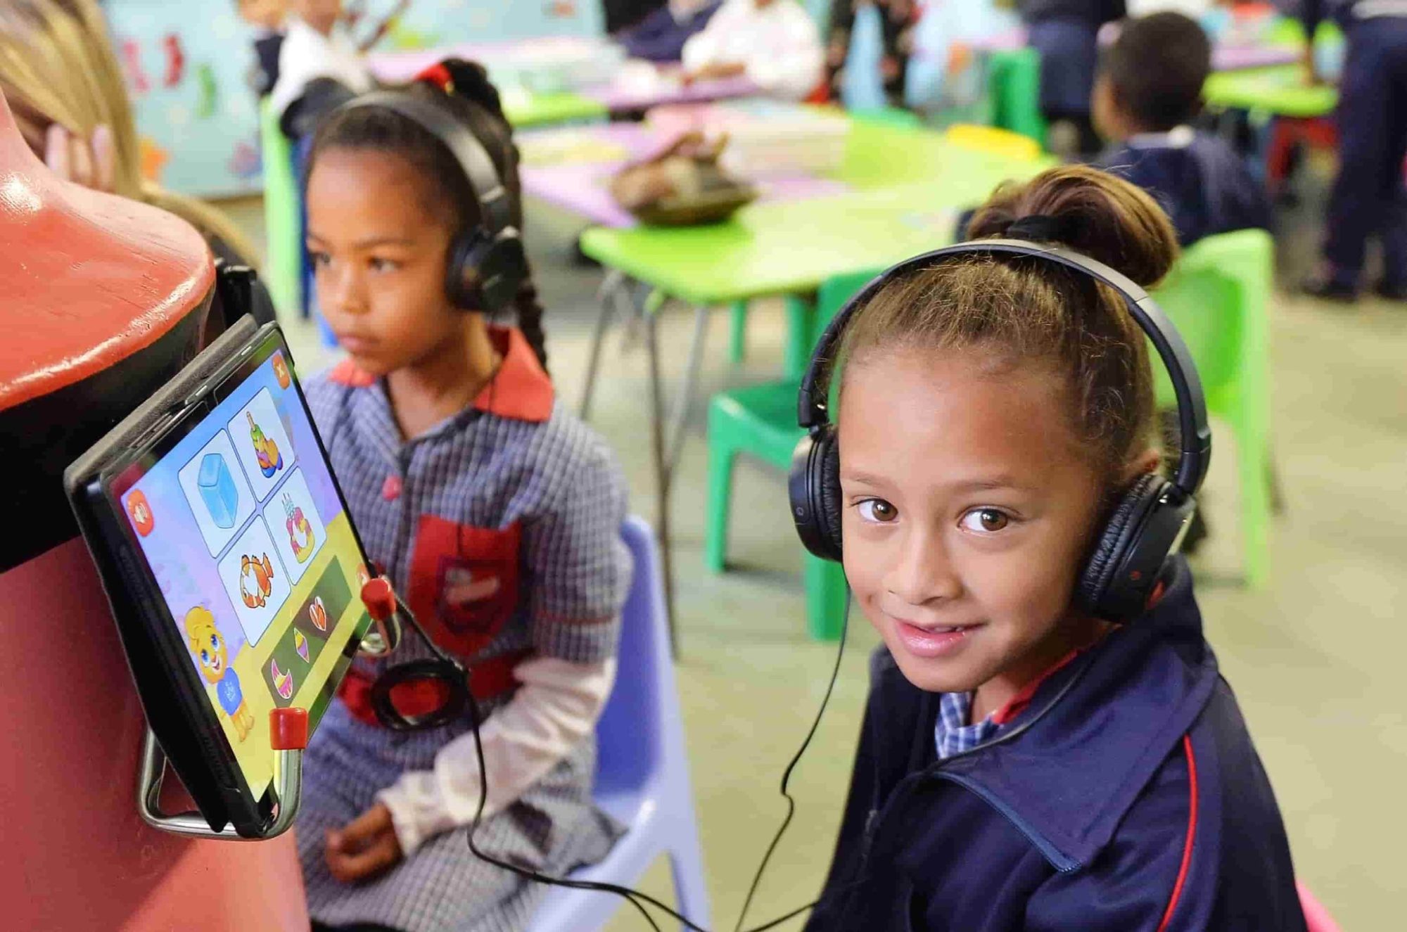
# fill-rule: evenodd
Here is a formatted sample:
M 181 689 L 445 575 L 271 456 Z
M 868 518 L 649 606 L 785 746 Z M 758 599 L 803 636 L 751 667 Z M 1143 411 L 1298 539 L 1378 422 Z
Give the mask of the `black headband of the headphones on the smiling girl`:
M 850 318 L 881 287 L 899 276 L 917 272 L 950 256 L 981 253 L 1044 259 L 1081 272 L 1119 293 L 1130 315 L 1133 315 L 1142 332 L 1148 335 L 1148 339 L 1152 341 L 1154 349 L 1158 351 L 1158 358 L 1162 359 L 1162 365 L 1168 370 L 1173 394 L 1178 398 L 1178 424 L 1182 435 L 1182 449 L 1178 455 L 1178 470 L 1172 481 L 1186 496 L 1196 493 L 1202 486 L 1202 480 L 1206 479 L 1207 466 L 1211 460 L 1211 428 L 1207 425 L 1207 404 L 1202 393 L 1202 380 L 1197 377 L 1197 367 L 1192 362 L 1188 345 L 1182 341 L 1178 328 L 1162 313 L 1162 308 L 1138 284 L 1107 265 L 1064 246 L 1047 246 L 1017 239 L 974 239 L 934 249 L 933 252 L 926 252 L 891 266 L 865 284 L 865 287 L 860 289 L 832 318 L 830 324 L 826 325 L 826 332 L 822 334 L 820 342 L 812 353 L 810 363 L 806 366 L 806 374 L 802 377 L 796 410 L 798 424 L 809 431 L 815 431 L 830 422 L 827 400 L 820 390 L 822 374 L 830 365 Z

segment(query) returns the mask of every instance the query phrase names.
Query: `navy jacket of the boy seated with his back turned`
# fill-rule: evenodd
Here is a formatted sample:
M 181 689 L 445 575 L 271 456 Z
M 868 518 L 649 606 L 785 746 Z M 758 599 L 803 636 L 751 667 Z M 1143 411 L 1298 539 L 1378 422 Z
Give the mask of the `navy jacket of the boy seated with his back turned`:
M 1220 137 L 1188 127 L 1134 137 L 1102 156 L 1100 168 L 1152 194 L 1183 246 L 1233 229 L 1271 227 L 1265 187 Z

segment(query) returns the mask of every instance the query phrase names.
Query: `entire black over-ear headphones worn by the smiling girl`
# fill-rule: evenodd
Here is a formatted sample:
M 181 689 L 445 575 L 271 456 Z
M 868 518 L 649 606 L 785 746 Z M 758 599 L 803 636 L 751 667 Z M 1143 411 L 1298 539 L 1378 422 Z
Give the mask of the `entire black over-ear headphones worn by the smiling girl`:
M 1037 242 L 978 239 L 936 249 L 891 267 L 860 290 L 826 327 L 801 383 L 796 420 L 806 436 L 792 455 L 788 491 L 796 534 L 806 549 L 827 560 L 841 559 L 840 445 L 830 422 L 825 374 L 846 325 L 889 282 L 951 256 L 1030 256 L 1074 269 L 1112 287 L 1152 341 L 1178 397 L 1182 449 L 1172 481 L 1157 473 L 1141 476 L 1123 493 L 1096 535 L 1076 587 L 1079 604 L 1109 621 L 1130 621 L 1148 605 L 1168 556 L 1176 552 L 1196 511 L 1193 496 L 1211 460 L 1211 429 L 1202 382 L 1192 353 L 1176 328 L 1148 294 L 1126 276 L 1089 256 Z

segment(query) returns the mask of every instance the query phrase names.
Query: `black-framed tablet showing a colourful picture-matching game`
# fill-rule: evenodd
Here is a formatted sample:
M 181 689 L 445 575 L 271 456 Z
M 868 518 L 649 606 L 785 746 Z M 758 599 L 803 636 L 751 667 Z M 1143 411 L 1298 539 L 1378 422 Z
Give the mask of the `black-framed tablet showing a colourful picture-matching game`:
M 248 318 L 65 473 L 148 719 L 201 814 L 272 817 L 269 712 L 326 710 L 366 555 L 277 325 Z

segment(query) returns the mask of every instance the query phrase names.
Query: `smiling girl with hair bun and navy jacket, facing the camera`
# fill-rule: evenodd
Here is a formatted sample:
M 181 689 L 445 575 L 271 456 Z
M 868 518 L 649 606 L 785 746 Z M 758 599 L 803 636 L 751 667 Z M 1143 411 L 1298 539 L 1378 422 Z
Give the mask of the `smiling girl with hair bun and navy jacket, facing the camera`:
M 969 235 L 1065 246 L 1140 286 L 1178 255 L 1145 193 L 1081 166 L 999 189 Z M 884 648 L 808 928 L 1303 931 L 1271 784 L 1188 565 L 1165 559 L 1192 503 L 1154 474 L 1126 300 L 1051 259 L 967 249 L 857 308 L 817 351 L 839 418 L 810 449 L 839 456 L 798 463 Z M 1106 570 L 1150 507 L 1173 519 L 1112 610 Z M 794 510 L 802 525 L 795 493 Z

